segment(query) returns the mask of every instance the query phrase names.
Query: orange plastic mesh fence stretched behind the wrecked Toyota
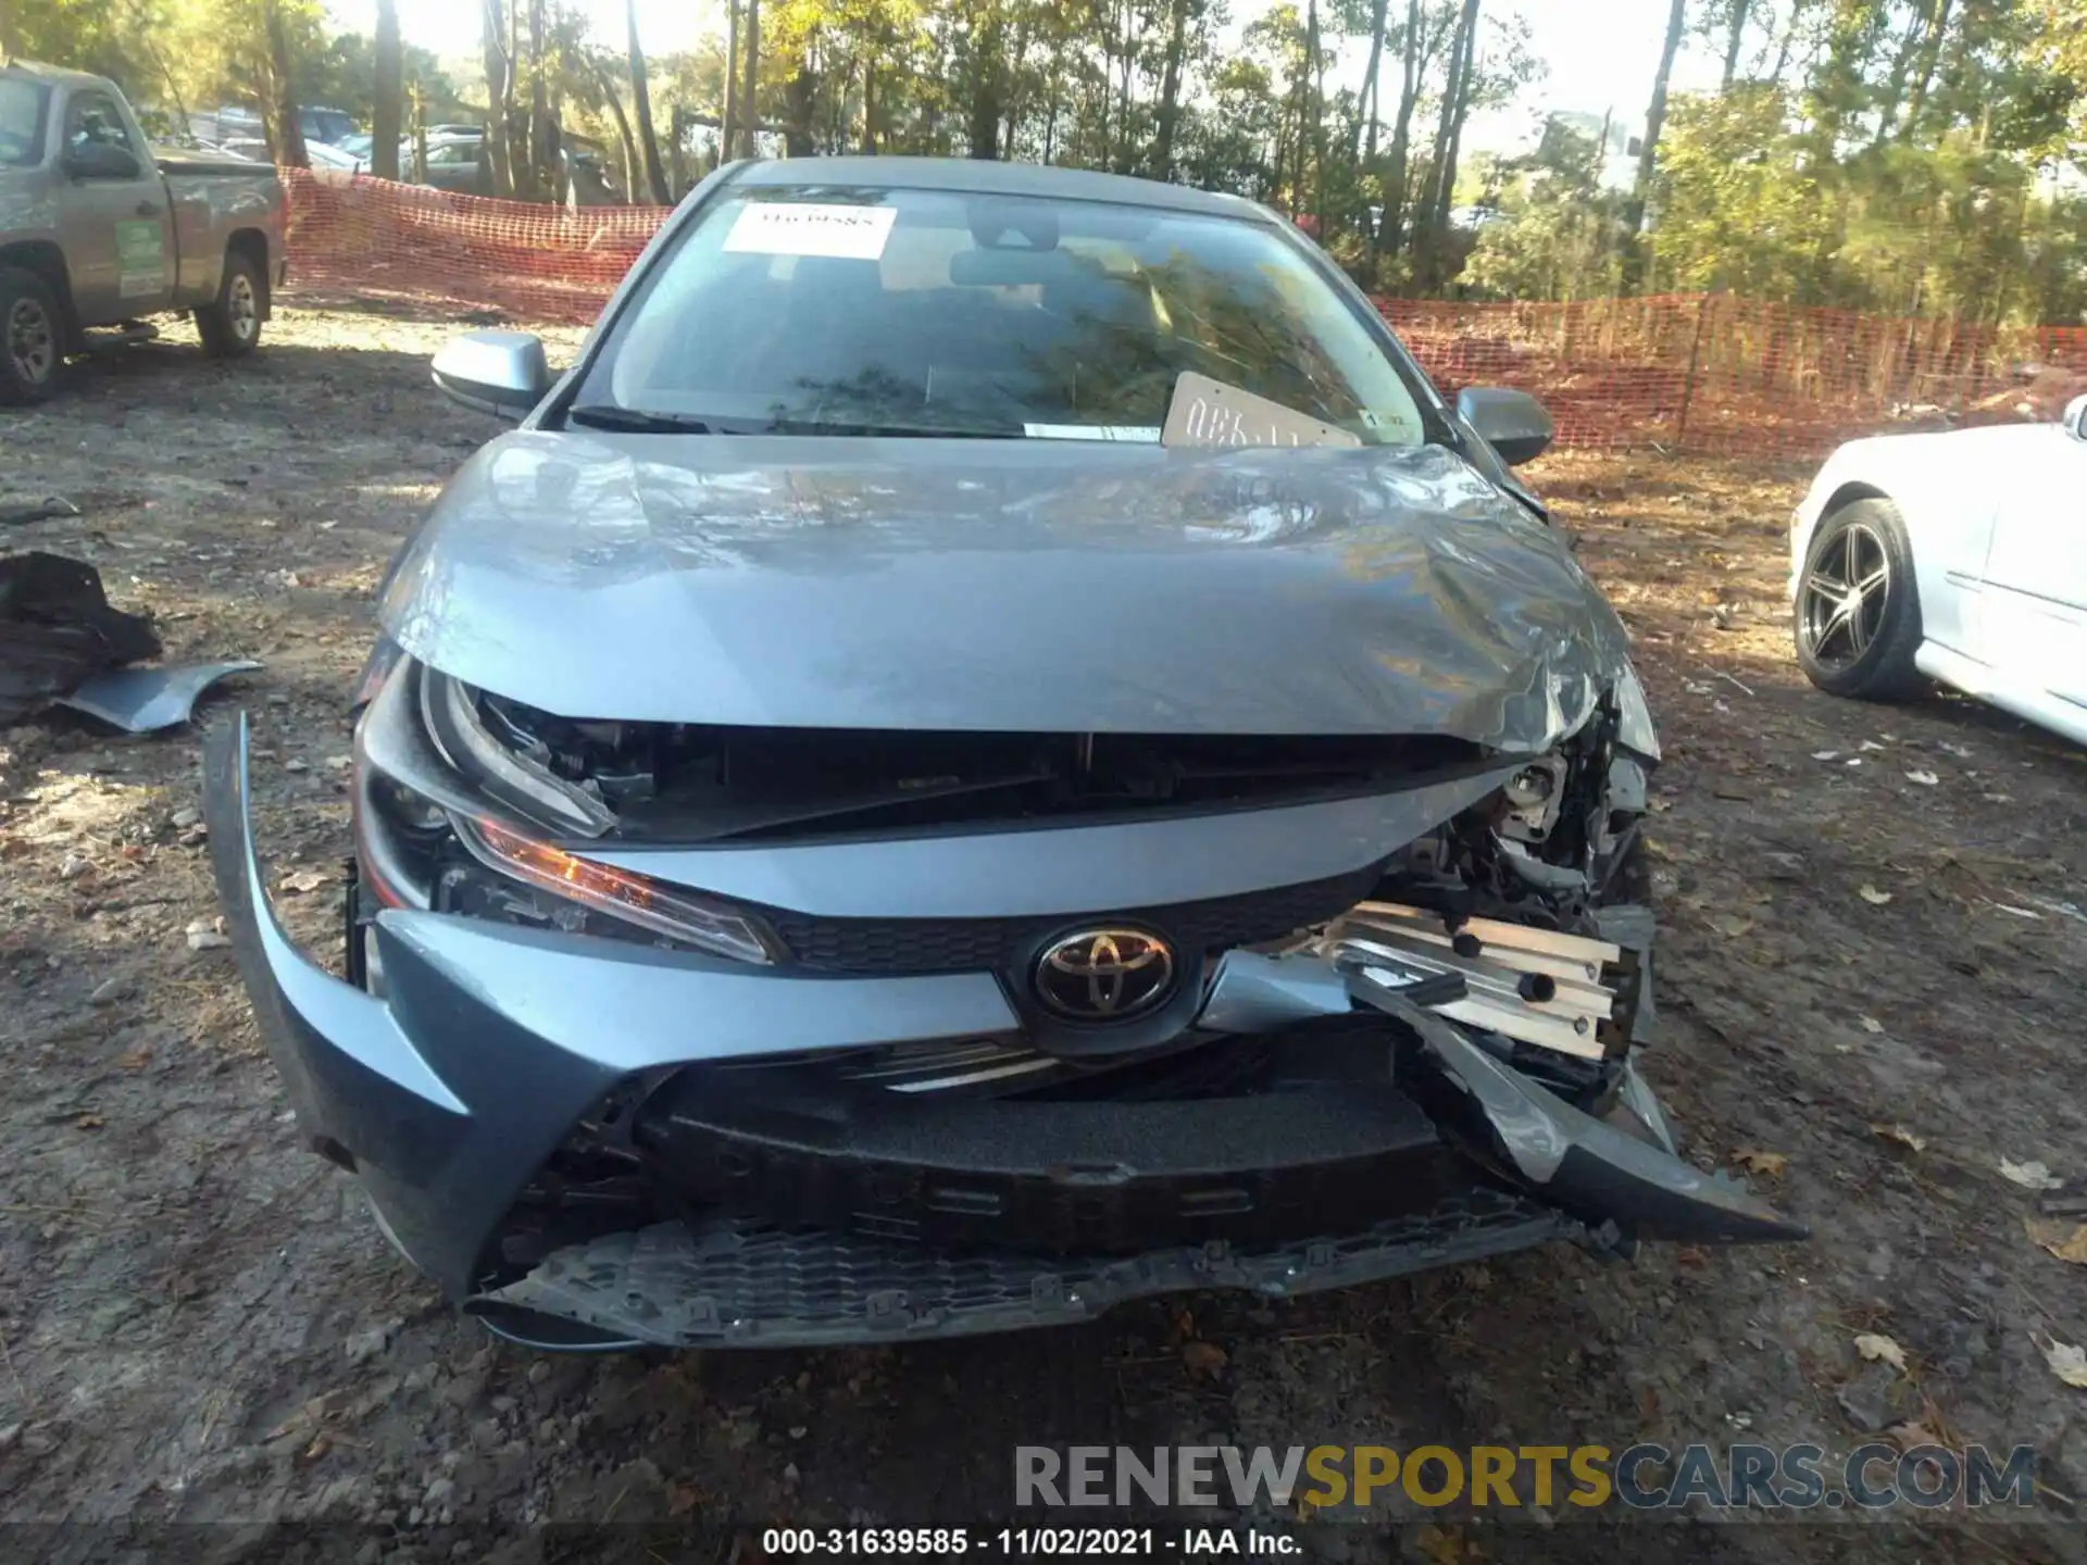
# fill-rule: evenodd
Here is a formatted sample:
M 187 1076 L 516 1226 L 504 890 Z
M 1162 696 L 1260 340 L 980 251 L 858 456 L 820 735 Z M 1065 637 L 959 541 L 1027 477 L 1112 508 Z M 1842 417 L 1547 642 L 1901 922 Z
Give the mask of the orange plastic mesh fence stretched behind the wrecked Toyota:
M 296 290 L 593 321 L 662 207 L 538 207 L 286 169 Z M 1816 457 L 1853 434 L 2054 417 L 2087 328 L 1997 330 L 1732 294 L 1471 305 L 1380 298 L 1434 382 L 1519 386 L 1569 449 Z

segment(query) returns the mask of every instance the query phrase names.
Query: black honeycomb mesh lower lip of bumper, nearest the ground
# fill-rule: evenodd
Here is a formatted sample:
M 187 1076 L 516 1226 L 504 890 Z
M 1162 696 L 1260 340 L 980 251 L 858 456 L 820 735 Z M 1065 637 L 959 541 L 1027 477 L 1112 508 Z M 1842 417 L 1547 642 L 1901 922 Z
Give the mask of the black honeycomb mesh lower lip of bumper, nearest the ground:
M 1490 1189 L 1357 1235 L 1210 1242 L 1129 1260 L 947 1254 L 716 1219 L 555 1250 L 465 1308 L 536 1310 L 670 1348 L 893 1342 L 1075 1325 L 1185 1290 L 1294 1298 L 1584 1237 L 1561 1212 Z

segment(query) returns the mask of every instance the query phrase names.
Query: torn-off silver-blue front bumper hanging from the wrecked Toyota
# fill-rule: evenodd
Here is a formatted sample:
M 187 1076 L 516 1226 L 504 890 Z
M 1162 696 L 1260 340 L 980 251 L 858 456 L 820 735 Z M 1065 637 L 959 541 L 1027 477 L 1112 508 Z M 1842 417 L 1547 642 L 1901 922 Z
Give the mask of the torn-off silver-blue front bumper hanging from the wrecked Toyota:
M 806 979 L 403 908 L 374 926 L 376 997 L 317 968 L 269 910 L 244 716 L 211 737 L 205 772 L 234 954 L 301 1133 L 359 1177 L 417 1269 L 524 1340 L 960 1335 L 1183 1287 L 1302 1294 L 1559 1237 L 1801 1237 L 1741 1185 L 1676 1158 L 1634 1073 L 1624 1131 L 1461 1027 L 1329 968 L 1321 983 L 1271 985 L 1256 1020 L 1273 1033 L 1375 1012 L 1375 1052 L 1363 1050 L 1361 1075 L 1329 1077 L 1319 1108 L 1223 1100 L 1198 1123 L 1198 1104 L 1181 1102 L 1096 1104 L 1092 1121 L 1056 1106 L 1029 1121 L 1058 1127 L 1037 1146 L 989 1108 L 952 1110 L 929 1135 L 904 1118 L 839 1131 L 818 1114 L 735 1118 L 662 1083 L 687 1085 L 676 1070 L 695 1064 L 1006 1035 L 1018 1016 L 989 972 Z M 678 1208 L 503 1265 L 503 1225 L 532 1181 L 634 1083 L 668 1106 L 649 1154 Z M 1275 1125 L 1279 1112 L 1292 1123 Z M 1225 1114 L 1236 1127 L 1217 1131 Z M 962 1200 L 952 1181 L 968 1181 Z M 885 1191 L 874 1221 L 860 1191 Z M 1248 1210 L 1261 1221 L 1242 1221 Z M 1002 1217 L 1048 1242 L 981 1244 Z M 557 1323 L 576 1329 L 547 1329 Z

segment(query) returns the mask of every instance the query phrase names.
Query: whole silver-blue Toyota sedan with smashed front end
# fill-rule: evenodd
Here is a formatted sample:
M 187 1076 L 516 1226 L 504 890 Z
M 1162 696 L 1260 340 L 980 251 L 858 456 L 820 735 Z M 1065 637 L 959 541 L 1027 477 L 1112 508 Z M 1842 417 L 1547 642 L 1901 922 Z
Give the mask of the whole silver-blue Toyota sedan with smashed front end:
M 209 749 L 240 970 L 405 1256 L 566 1348 L 904 1340 L 1555 1239 L 1786 1239 L 1636 1070 L 1611 609 L 1292 225 L 710 177 L 394 561 L 349 981 Z

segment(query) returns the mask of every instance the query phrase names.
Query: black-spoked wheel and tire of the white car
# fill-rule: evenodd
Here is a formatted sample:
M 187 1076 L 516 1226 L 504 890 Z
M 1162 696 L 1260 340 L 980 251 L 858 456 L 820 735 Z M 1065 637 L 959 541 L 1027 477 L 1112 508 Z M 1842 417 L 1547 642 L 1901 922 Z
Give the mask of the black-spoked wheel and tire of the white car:
M 1828 695 L 1903 701 L 1926 689 L 1920 588 L 1905 517 L 1887 499 L 1849 501 L 1820 522 L 1797 578 L 1797 664 Z

